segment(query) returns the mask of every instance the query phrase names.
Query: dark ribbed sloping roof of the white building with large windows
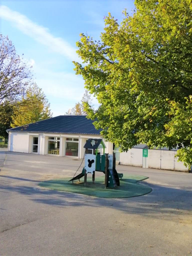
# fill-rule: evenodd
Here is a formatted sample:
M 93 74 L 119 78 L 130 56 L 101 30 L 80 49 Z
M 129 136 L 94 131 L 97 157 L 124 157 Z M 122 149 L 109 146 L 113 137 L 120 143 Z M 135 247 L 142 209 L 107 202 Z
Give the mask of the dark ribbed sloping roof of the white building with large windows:
M 93 121 L 83 115 L 59 115 L 7 131 L 100 134 L 102 129 L 96 130 Z

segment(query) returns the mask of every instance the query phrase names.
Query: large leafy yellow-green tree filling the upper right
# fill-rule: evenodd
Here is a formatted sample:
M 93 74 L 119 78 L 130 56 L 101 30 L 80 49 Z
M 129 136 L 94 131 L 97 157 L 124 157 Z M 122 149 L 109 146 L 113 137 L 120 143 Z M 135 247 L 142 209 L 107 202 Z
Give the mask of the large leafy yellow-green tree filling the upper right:
M 87 106 L 88 117 L 122 150 L 178 146 L 179 159 L 192 164 L 191 17 L 191 0 L 135 0 L 121 24 L 105 17 L 99 41 L 80 34 L 76 74 L 100 103 Z

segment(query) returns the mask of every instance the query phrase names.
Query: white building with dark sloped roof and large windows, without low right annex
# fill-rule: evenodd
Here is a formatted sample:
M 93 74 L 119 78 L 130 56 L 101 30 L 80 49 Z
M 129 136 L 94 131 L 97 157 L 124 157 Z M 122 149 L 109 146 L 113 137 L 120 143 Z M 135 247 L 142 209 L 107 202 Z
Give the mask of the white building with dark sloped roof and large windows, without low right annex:
M 88 138 L 102 138 L 86 116 L 60 115 L 7 130 L 8 151 L 83 158 Z M 113 143 L 105 142 L 112 154 Z

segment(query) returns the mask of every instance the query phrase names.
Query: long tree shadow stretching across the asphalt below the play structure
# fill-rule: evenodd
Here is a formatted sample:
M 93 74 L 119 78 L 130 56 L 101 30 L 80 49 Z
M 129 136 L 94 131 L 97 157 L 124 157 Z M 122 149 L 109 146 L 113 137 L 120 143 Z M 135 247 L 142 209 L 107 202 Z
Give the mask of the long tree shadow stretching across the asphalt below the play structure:
M 58 207 L 111 207 L 125 213 L 143 215 L 146 218 L 156 214 L 162 214 L 164 219 L 170 219 L 171 215 L 177 215 L 179 218 L 179 215 L 183 214 L 190 217 L 190 212 L 187 211 L 192 210 L 192 202 L 189 200 L 192 191 L 142 183 L 150 186 L 153 191 L 145 196 L 121 199 L 96 198 L 33 186 L 2 185 L 0 192 L 23 194 L 37 203 Z

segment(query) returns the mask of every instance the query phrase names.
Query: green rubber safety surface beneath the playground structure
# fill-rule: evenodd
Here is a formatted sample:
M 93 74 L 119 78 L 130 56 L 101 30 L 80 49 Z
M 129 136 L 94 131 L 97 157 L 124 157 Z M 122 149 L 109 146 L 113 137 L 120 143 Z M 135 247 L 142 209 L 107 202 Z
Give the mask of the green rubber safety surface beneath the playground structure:
M 71 177 L 55 179 L 55 180 L 46 180 L 40 182 L 39 186 L 83 194 L 87 196 L 94 197 L 103 197 L 103 198 L 125 198 L 125 197 L 136 197 L 148 194 L 152 191 L 152 188 L 138 184 L 138 181 L 147 179 L 146 176 L 140 175 L 123 175 L 123 178 L 120 179 L 120 186 L 115 187 L 114 189 L 105 189 L 104 180 L 105 176 L 95 177 L 95 183 L 92 183 L 92 177 L 87 177 L 87 186 L 84 186 L 84 177 L 78 181 L 68 182 Z

